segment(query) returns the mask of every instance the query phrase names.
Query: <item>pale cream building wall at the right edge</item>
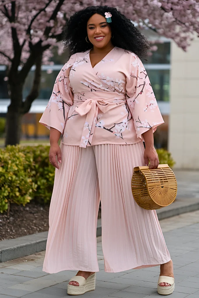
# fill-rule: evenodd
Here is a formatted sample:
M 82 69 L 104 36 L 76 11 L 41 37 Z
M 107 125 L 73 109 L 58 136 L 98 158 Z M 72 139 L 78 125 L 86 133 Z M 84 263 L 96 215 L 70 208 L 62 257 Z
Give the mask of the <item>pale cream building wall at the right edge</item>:
M 175 168 L 199 169 L 199 38 L 187 52 L 171 42 L 169 151 Z

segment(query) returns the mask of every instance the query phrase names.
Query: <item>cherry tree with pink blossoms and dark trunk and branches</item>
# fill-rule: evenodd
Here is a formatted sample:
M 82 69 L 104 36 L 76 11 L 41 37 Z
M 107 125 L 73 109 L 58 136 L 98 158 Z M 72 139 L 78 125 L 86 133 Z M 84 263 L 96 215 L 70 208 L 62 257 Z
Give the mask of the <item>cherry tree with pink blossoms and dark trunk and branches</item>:
M 172 38 L 183 50 L 195 32 L 199 34 L 199 0 L 0 0 L 0 63 L 7 66 L 5 80 L 11 99 L 6 145 L 19 143 L 21 118 L 38 97 L 41 65 L 50 63 L 53 46 L 62 52 L 61 35 L 68 18 L 90 5 L 117 7 L 141 29 Z M 32 88 L 23 98 L 24 82 L 33 65 Z

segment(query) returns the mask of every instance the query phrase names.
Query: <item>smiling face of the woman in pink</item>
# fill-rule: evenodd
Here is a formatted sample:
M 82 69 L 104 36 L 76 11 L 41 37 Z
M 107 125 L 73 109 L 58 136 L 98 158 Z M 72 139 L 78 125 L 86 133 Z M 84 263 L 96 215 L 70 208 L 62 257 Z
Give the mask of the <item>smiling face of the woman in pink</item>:
M 96 48 L 104 48 L 111 43 L 111 28 L 107 19 L 95 13 L 87 22 L 87 39 Z

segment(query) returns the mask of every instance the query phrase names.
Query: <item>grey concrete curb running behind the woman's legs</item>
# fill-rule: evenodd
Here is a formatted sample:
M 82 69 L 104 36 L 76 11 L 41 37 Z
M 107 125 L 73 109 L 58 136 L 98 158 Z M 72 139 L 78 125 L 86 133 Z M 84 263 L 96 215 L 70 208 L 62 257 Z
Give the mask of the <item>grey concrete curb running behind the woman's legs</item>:
M 189 200 L 187 200 L 190 202 Z M 199 202 L 178 206 L 174 203 L 162 209 L 156 210 L 158 219 L 169 218 L 182 213 L 195 211 L 199 209 Z M 0 241 L 0 263 L 9 260 L 25 257 L 46 249 L 48 231 Z M 101 236 L 101 219 L 97 222 L 96 236 Z

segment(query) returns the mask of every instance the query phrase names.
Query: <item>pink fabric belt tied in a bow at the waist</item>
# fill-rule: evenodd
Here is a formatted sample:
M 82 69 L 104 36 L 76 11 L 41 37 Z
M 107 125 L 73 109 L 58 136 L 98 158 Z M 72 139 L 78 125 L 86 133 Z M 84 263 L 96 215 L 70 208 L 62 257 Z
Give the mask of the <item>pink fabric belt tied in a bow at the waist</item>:
M 103 99 L 102 99 L 103 98 Z M 80 147 L 86 148 L 91 145 L 92 136 L 95 129 L 95 120 L 97 119 L 98 109 L 105 113 L 114 108 L 115 103 L 125 103 L 126 95 L 118 95 L 115 92 L 107 91 L 89 91 L 75 93 L 73 104 L 76 104 L 75 111 L 84 116 L 87 114 L 86 121 L 81 136 Z

